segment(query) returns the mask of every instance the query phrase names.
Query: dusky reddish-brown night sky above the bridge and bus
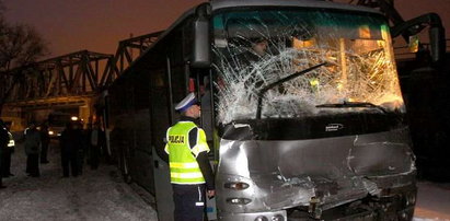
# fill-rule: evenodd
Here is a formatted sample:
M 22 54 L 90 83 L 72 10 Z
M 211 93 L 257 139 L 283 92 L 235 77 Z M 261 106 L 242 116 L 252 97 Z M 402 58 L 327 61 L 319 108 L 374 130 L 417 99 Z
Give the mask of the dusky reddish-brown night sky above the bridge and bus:
M 348 0 L 341 0 L 348 2 Z M 89 49 L 114 54 L 120 39 L 166 28 L 203 0 L 3 0 L 10 23 L 30 24 L 49 45 L 49 57 Z M 395 0 L 404 19 L 441 15 L 450 38 L 450 0 Z

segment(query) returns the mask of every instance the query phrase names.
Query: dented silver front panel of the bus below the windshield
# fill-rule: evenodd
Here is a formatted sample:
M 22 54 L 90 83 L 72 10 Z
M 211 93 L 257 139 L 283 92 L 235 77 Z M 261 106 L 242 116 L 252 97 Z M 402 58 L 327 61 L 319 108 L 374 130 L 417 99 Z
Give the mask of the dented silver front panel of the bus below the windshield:
M 407 128 L 313 140 L 221 140 L 217 170 L 217 206 L 222 213 L 277 211 L 309 206 L 322 210 L 383 188 L 415 184 L 414 154 Z M 227 183 L 244 182 L 244 190 Z M 228 202 L 246 198 L 246 205 Z M 220 214 L 219 214 L 220 217 Z

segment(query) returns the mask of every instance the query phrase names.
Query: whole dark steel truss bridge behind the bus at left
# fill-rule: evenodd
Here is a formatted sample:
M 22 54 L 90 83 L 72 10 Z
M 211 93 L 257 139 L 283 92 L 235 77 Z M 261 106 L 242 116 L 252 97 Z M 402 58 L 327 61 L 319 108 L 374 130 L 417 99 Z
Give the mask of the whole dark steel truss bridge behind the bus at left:
M 149 48 L 162 32 L 120 40 L 115 55 L 81 50 L 8 73 L 13 85 L 5 105 L 25 109 L 81 106 L 95 96 Z M 0 93 L 7 93 L 0 86 Z

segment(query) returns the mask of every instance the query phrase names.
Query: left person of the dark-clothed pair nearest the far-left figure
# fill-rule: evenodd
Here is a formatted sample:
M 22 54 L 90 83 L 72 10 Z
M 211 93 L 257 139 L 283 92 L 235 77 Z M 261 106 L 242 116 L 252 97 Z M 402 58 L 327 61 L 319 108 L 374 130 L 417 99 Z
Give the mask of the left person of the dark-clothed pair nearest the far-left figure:
M 36 125 L 31 123 L 24 131 L 25 136 L 25 153 L 26 172 L 28 176 L 39 177 L 39 153 L 41 153 L 41 132 L 36 129 Z

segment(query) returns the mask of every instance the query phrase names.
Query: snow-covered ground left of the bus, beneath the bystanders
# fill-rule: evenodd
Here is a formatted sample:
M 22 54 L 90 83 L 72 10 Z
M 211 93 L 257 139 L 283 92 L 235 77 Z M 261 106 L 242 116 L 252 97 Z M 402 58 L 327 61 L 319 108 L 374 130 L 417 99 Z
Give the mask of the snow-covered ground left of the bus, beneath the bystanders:
M 158 220 L 157 212 L 125 184 L 113 165 L 85 166 L 79 177 L 62 178 L 59 151 L 53 146 L 41 177 L 25 174 L 21 144 L 12 156 L 13 177 L 3 178 L 0 221 L 39 220 Z

